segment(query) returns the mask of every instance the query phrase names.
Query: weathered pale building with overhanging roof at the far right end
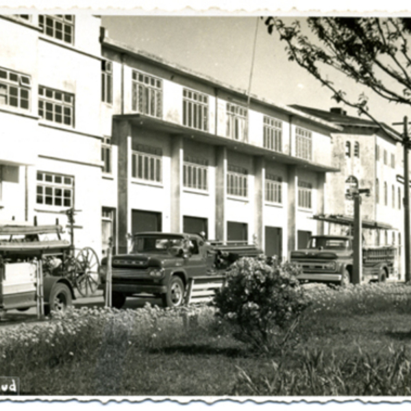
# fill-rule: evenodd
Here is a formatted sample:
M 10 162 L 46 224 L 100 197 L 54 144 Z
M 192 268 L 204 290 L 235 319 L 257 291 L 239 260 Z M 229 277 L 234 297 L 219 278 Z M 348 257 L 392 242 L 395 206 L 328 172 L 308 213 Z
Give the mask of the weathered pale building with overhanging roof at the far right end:
M 403 153 L 401 136 L 384 123 L 347 116 L 341 108 L 329 112 L 292 105 L 312 116 L 343 128 L 332 134 L 332 155 L 339 173 L 327 173 L 325 213 L 314 216 L 327 222 L 325 231 L 345 234 L 353 221 L 353 200 L 347 198 L 350 184 L 369 188 L 362 196 L 364 241 L 368 245 L 398 247 L 399 271 L 403 266 Z M 342 188 L 345 187 L 345 190 Z

